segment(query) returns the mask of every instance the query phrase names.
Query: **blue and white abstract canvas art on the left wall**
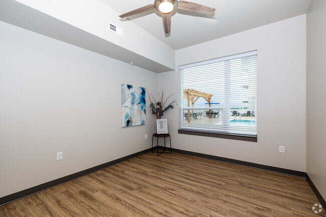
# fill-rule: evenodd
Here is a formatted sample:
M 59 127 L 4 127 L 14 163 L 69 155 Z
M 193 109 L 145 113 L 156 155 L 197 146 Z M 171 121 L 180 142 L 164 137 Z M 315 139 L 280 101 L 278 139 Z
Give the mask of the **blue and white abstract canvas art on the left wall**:
M 121 107 L 122 127 L 145 124 L 145 88 L 121 84 Z

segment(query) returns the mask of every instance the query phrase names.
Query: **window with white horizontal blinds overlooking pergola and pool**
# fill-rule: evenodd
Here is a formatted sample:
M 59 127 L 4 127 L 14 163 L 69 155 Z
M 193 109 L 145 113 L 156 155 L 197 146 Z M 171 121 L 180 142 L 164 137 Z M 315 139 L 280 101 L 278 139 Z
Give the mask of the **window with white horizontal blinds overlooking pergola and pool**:
M 180 131 L 257 137 L 257 51 L 179 69 Z

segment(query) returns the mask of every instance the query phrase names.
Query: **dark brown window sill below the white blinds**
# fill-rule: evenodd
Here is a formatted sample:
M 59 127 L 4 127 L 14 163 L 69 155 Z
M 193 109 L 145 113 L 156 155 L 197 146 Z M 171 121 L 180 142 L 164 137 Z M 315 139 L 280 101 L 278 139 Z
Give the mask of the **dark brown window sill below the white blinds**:
M 257 142 L 257 136 L 254 135 L 240 135 L 240 134 L 232 134 L 232 133 L 217 133 L 217 132 L 207 132 L 207 131 L 198 131 L 198 130 L 178 130 L 180 134 L 188 134 L 195 136 L 208 136 L 208 137 L 216 137 L 223 139 L 235 139 L 249 142 Z

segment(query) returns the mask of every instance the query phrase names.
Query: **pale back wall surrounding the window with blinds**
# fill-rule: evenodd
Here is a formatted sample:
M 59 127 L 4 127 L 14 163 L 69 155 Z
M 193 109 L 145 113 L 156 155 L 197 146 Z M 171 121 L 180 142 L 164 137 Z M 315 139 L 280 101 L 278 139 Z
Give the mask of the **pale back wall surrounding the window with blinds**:
M 306 16 L 298 16 L 176 52 L 180 65 L 258 50 L 258 142 L 178 134 L 178 109 L 169 111 L 174 148 L 305 172 Z M 158 89 L 178 92 L 178 71 L 158 74 Z M 178 98 L 178 94 L 176 95 Z M 278 146 L 285 146 L 285 153 Z

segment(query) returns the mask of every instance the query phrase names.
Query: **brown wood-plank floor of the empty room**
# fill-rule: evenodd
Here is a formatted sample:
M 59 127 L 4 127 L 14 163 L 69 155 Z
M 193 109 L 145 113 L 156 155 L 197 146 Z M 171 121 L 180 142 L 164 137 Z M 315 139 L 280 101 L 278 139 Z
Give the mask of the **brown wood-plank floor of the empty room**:
M 326 216 L 304 178 L 147 153 L 0 207 L 0 216 Z

